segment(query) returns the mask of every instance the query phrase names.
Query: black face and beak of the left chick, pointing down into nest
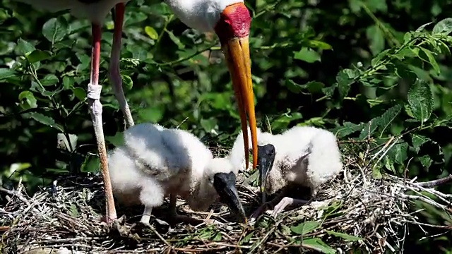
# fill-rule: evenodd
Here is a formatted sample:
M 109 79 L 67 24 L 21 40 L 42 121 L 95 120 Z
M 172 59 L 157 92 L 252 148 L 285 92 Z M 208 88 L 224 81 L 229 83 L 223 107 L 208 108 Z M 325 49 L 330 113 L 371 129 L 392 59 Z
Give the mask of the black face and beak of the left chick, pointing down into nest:
M 213 176 L 213 186 L 218 195 L 220 195 L 222 202 L 225 202 L 230 207 L 230 210 L 237 214 L 246 224 L 246 214 L 242 207 L 242 202 L 240 202 L 237 188 L 235 188 L 234 172 L 215 174 Z

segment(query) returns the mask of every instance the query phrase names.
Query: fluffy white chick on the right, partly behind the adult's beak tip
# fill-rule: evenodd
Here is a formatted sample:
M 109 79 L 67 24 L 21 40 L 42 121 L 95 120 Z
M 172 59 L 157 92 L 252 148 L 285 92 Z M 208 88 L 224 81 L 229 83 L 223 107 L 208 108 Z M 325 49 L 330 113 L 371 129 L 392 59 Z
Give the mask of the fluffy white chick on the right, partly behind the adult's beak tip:
M 243 163 L 242 140 L 237 137 L 230 156 L 231 162 Z M 336 176 L 343 164 L 335 135 L 330 131 L 311 126 L 295 126 L 281 134 L 272 135 L 257 131 L 259 183 L 265 202 L 265 193 L 273 194 L 288 185 L 310 188 L 314 198 L 319 186 Z M 243 148 L 242 148 L 243 150 Z M 285 189 L 283 189 L 285 190 Z M 285 197 L 283 191 L 268 205 L 274 206 L 273 216 L 287 205 L 307 202 Z M 260 207 L 251 218 L 263 212 Z

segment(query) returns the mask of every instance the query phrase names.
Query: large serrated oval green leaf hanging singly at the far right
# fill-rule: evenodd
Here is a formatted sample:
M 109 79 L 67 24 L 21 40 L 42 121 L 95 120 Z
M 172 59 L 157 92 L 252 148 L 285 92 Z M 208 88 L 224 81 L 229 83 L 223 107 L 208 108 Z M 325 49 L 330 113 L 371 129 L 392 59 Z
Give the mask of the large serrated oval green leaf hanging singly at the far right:
M 412 115 L 421 123 L 429 120 L 433 111 L 432 90 L 427 82 L 417 79 L 408 90 L 408 104 Z

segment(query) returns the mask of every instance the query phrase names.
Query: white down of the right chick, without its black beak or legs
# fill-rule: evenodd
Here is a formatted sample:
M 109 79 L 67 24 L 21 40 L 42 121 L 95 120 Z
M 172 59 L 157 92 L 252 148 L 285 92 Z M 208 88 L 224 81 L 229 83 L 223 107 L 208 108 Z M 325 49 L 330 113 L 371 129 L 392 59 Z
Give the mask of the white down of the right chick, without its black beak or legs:
M 230 161 L 240 168 L 244 167 L 242 139 L 240 133 L 229 155 Z M 266 180 L 266 192 L 269 194 L 288 183 L 295 183 L 311 188 L 311 195 L 315 195 L 317 188 L 343 167 L 335 135 L 321 128 L 295 126 L 275 135 L 263 133 L 258 128 L 257 141 L 260 146 L 272 144 L 275 147 L 275 160 Z

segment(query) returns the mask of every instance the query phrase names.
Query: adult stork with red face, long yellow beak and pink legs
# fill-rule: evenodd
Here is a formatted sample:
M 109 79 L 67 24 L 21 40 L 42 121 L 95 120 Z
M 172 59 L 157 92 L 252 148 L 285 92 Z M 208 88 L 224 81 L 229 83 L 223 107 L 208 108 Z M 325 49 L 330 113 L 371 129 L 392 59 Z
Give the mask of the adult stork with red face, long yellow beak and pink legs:
M 114 7 L 114 34 L 112 53 L 109 63 L 109 77 L 113 83 L 114 95 L 124 113 L 126 126 L 133 126 L 129 105 L 122 89 L 119 75 L 119 55 L 121 50 L 122 23 L 124 8 L 130 0 L 16 0 L 42 8 L 47 11 L 70 10 L 76 18 L 87 18 L 92 23 L 92 54 L 90 83 L 88 84 L 88 105 L 100 157 L 100 170 L 105 184 L 107 202 L 107 222 L 117 218 L 107 166 L 107 151 L 102 129 L 102 104 L 100 103 L 99 59 L 100 39 L 103 20 Z M 254 114 L 254 93 L 251 83 L 251 63 L 249 55 L 249 28 L 251 16 L 243 0 L 165 0 L 168 6 L 191 28 L 203 32 L 214 31 L 222 45 L 227 67 L 229 68 L 234 87 L 234 95 L 239 106 L 244 147 L 248 147 L 246 131 L 246 115 L 251 128 L 251 143 L 253 151 L 253 168 L 257 164 L 256 116 Z M 246 165 L 249 151 L 245 150 Z

